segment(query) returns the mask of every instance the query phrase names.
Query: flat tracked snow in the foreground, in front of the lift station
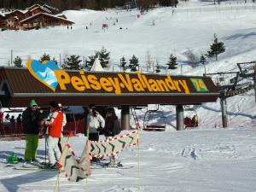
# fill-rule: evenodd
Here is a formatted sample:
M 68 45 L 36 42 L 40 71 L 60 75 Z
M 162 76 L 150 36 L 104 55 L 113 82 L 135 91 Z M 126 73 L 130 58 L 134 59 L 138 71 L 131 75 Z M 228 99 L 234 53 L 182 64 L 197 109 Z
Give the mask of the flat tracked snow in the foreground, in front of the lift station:
M 255 191 L 256 131 L 253 128 L 141 132 L 139 148 L 120 154 L 129 169 L 92 169 L 86 181 L 70 183 L 60 176 L 60 191 Z M 73 137 L 79 156 L 84 137 Z M 22 156 L 25 141 L 1 142 L 1 159 Z M 138 171 L 139 154 L 139 171 Z M 38 148 L 44 161 L 44 139 Z M 56 173 L 20 171 L 0 163 L 0 191 L 54 191 Z M 38 187 L 40 186 L 40 187 Z

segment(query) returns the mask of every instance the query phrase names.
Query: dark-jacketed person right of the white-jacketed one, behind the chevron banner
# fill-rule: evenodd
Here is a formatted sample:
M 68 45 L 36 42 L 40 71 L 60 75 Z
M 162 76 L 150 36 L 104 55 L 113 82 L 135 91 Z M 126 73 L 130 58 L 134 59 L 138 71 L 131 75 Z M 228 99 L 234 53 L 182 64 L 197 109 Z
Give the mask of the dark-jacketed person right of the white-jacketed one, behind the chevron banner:
M 108 108 L 103 131 L 106 139 L 108 139 L 109 137 L 114 137 L 118 135 L 119 132 L 121 131 L 119 119 L 115 114 L 114 108 Z M 110 159 L 110 162 L 108 166 L 122 166 L 122 164 L 120 163 L 118 154 L 114 154 L 113 156 L 110 156 L 109 159 Z

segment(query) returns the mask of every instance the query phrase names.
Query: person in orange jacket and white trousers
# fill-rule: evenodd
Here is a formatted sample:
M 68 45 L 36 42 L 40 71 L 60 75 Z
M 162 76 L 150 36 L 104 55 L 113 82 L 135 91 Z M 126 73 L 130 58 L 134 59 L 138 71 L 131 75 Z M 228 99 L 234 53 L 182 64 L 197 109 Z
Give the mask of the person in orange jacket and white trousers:
M 56 163 L 61 157 L 61 151 L 58 148 L 59 138 L 63 124 L 63 113 L 61 112 L 58 102 L 49 102 L 50 113 L 47 120 L 43 121 L 44 126 L 48 126 L 48 158 L 49 167 L 57 168 Z

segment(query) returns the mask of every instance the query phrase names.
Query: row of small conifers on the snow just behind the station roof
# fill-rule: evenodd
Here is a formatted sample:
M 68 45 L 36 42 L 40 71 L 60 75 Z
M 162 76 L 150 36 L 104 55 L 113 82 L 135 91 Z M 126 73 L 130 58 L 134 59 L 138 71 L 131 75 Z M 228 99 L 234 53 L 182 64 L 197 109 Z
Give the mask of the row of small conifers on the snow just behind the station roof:
M 218 41 L 216 34 L 213 35 L 212 41 L 213 43 L 210 45 L 210 49 L 207 50 L 207 53 L 201 55 L 199 61 L 197 61 L 197 59 L 195 58 L 195 55 L 192 52 L 189 52 L 187 54 L 187 58 L 191 64 L 191 67 L 197 67 L 200 63 L 205 67 L 205 64 L 207 63 L 207 58 L 211 61 L 213 58 L 216 61 L 218 61 L 218 55 L 225 52 L 224 43 Z M 109 66 L 110 52 L 106 48 L 102 47 L 101 50 L 97 50 L 95 52 L 95 55 L 89 56 L 88 60 L 86 59 L 86 61 L 84 62 L 84 65 L 82 65 L 81 63 L 82 60 L 80 59 L 79 55 L 70 55 L 65 59 L 64 63 L 61 65 L 61 68 L 73 69 L 73 70 L 79 70 L 79 69 L 90 70 L 96 58 L 99 58 L 102 68 L 110 67 Z M 40 58 L 40 61 L 54 61 L 56 64 L 58 64 L 55 58 L 50 58 L 50 55 L 47 55 L 47 54 L 44 54 Z M 15 64 L 15 67 L 23 67 L 20 56 L 15 57 L 14 64 Z M 177 69 L 177 64 L 178 64 L 177 57 L 171 54 L 169 56 L 168 61 L 166 62 L 166 66 L 167 66 L 166 68 L 171 70 Z M 127 69 L 130 69 L 131 72 L 136 72 L 137 70 L 140 70 L 139 60 L 136 55 L 132 55 L 129 61 L 127 61 L 124 56 L 121 57 L 119 67 L 122 69 L 123 72 L 125 72 Z M 160 64 L 158 61 L 156 61 L 154 73 L 160 73 Z M 207 72 L 205 71 L 205 73 Z

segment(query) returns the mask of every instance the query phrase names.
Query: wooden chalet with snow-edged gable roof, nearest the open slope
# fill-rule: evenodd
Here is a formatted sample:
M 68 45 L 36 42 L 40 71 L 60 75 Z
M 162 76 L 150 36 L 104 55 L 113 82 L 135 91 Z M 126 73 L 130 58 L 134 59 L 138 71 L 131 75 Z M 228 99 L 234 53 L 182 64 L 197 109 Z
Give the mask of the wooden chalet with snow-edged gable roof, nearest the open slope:
M 49 15 L 45 13 L 39 13 L 37 15 L 32 15 L 25 20 L 20 21 L 20 26 L 23 29 L 32 29 L 44 26 L 72 26 L 73 21 L 57 17 L 55 15 Z

